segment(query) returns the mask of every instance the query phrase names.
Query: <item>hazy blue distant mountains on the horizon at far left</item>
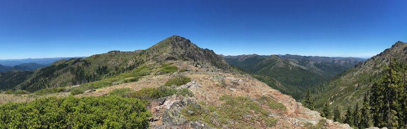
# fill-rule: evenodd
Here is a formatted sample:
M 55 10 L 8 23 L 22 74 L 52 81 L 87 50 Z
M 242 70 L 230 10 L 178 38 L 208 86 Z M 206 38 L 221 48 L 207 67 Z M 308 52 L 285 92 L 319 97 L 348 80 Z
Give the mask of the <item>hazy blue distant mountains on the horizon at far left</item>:
M 3 66 L 17 66 L 22 63 L 37 63 L 49 66 L 49 64 L 61 60 L 61 59 L 71 59 L 71 58 L 85 58 L 82 57 L 55 57 L 55 58 L 27 58 L 27 59 L 0 59 L 0 64 Z

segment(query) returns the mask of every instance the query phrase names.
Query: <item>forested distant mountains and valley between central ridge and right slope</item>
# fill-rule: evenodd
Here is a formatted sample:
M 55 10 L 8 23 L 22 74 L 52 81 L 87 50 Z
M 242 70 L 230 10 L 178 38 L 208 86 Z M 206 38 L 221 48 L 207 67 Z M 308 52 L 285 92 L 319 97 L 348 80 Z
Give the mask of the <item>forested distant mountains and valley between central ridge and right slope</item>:
M 249 73 L 274 78 L 276 87 L 273 88 L 292 95 L 295 99 L 300 99 L 307 88 L 319 85 L 336 74 L 365 61 L 361 58 L 331 58 L 289 54 L 280 56 L 251 54 L 223 57 L 228 63 L 241 67 Z M 273 84 L 269 85 L 272 86 Z

